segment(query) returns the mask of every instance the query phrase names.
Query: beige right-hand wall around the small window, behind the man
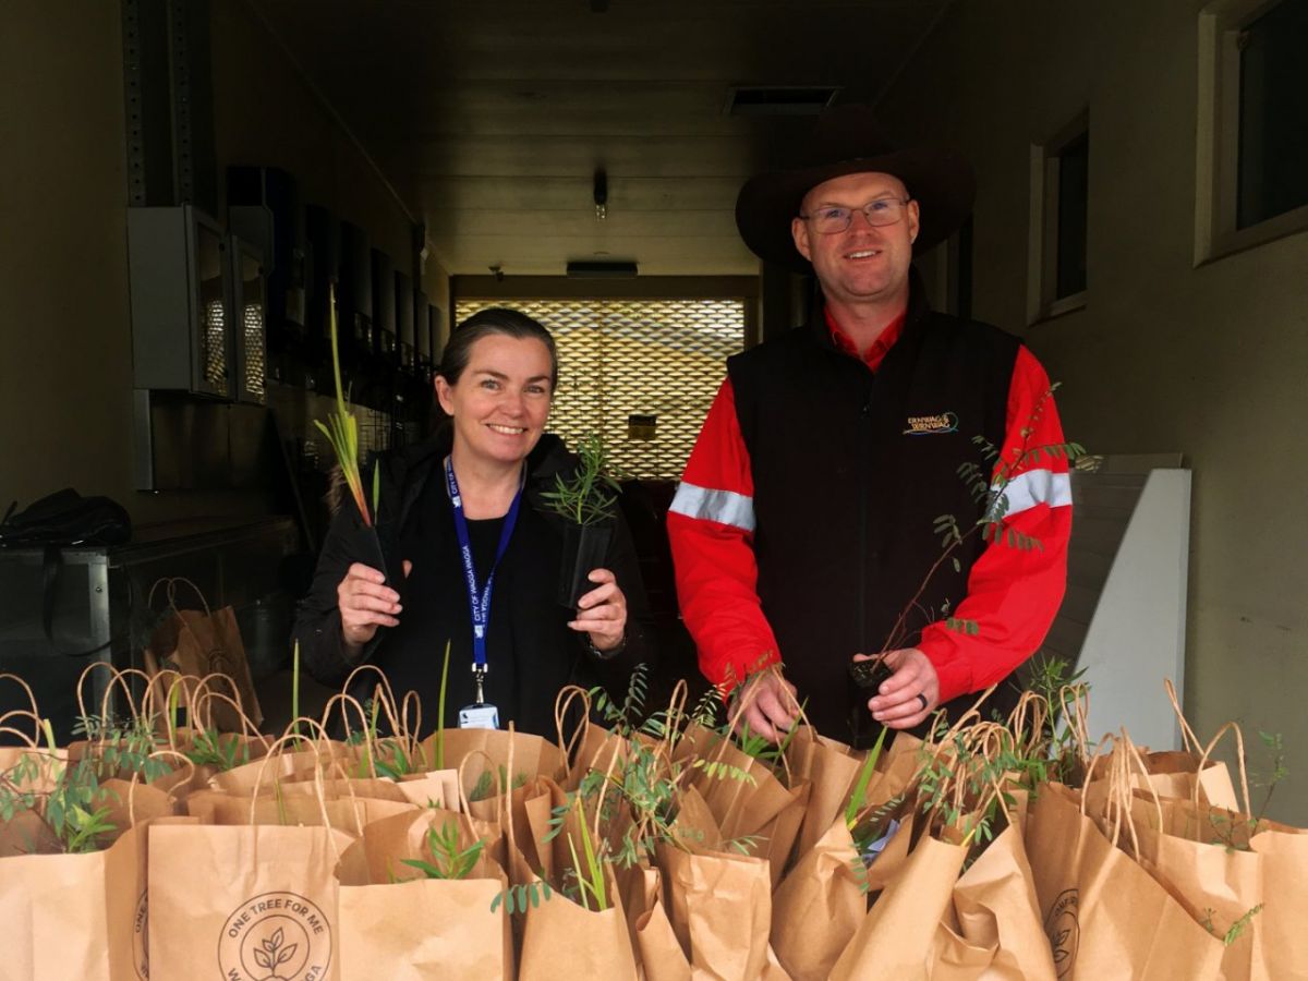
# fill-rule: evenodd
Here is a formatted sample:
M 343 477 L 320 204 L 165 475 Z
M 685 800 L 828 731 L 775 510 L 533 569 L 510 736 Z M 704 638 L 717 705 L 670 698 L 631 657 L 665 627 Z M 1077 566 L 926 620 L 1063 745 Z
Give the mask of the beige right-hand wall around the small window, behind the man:
M 1301 821 L 1308 233 L 1193 266 L 1201 7 L 960 0 L 879 112 L 904 141 L 976 164 L 976 315 L 1023 334 L 1063 382 L 1069 437 L 1194 468 L 1186 709 L 1201 734 L 1227 719 L 1254 743 L 1281 732 L 1298 752 L 1270 812 Z M 1087 106 L 1088 305 L 1024 328 L 1029 148 Z M 1160 679 L 1141 683 L 1167 712 Z

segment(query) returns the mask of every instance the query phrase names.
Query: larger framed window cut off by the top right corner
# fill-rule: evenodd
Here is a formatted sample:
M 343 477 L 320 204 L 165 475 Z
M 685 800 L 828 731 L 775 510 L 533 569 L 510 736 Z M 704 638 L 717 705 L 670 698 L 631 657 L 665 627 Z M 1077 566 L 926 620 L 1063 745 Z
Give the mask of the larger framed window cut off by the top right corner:
M 1196 262 L 1308 228 L 1308 0 L 1199 17 Z

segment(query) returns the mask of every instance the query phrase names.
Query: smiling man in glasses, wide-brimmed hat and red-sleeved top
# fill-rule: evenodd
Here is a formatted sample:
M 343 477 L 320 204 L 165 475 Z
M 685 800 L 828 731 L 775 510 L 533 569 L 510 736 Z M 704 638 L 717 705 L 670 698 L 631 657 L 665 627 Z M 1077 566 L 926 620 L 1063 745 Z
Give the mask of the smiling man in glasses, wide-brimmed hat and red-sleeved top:
M 858 106 L 824 112 L 807 149 L 744 184 L 736 226 L 760 258 L 811 271 L 823 302 L 729 360 L 668 535 L 701 670 L 726 689 L 748 679 L 749 730 L 778 739 L 802 702 L 866 746 L 956 715 L 1036 650 L 1062 600 L 1071 496 L 1066 459 L 1032 453 L 1063 442 L 1035 357 L 931 311 L 910 268 L 969 213 L 967 162 L 896 152 Z M 967 534 L 986 508 L 968 462 L 995 467 L 991 508 L 1015 535 L 973 531 L 942 560 L 937 519 Z M 893 674 L 859 689 L 850 661 L 883 651 Z

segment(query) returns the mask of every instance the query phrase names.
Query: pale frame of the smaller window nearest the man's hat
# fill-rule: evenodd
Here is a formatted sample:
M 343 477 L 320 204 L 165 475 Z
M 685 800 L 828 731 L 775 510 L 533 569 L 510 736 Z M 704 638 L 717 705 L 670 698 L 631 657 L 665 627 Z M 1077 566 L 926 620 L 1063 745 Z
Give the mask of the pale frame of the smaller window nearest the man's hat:
M 1083 109 L 1045 139 L 1031 144 L 1031 228 L 1027 241 L 1028 324 L 1082 310 L 1090 298 L 1088 288 L 1066 297 L 1056 296 L 1058 289 L 1058 158 L 1071 143 L 1088 132 L 1090 110 Z

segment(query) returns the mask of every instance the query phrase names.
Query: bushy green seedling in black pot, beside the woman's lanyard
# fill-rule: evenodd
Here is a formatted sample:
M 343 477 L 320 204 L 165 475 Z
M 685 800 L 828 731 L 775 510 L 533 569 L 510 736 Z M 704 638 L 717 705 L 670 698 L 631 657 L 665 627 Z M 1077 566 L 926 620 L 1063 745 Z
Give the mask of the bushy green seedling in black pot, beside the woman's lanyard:
M 559 602 L 569 610 L 594 589 L 587 578 L 604 565 L 617 518 L 620 488 L 613 479 L 608 449 L 591 433 L 577 445 L 577 470 L 570 477 L 555 475 L 555 489 L 542 498 L 564 519 L 564 549 L 559 566 Z

